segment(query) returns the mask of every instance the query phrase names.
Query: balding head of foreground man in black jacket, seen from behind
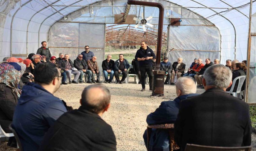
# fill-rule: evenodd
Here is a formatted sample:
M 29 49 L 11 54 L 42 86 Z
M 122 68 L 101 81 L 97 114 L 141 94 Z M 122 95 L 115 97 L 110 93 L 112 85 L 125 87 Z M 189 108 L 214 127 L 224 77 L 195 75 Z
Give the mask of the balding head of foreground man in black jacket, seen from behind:
M 97 95 L 95 95 L 94 91 L 97 91 Z M 82 92 L 81 105 L 86 110 L 98 114 L 110 103 L 110 96 L 110 91 L 105 85 L 90 85 Z

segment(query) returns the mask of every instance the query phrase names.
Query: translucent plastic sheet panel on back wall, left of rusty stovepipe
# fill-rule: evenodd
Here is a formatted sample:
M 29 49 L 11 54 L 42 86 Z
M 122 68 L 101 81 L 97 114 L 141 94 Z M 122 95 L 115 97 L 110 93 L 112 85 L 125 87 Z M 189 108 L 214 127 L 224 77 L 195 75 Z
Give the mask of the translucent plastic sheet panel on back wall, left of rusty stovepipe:
M 69 54 L 69 58 L 73 61 L 88 45 L 90 51 L 97 57 L 98 66 L 102 70 L 104 41 L 105 24 L 57 22 L 49 31 L 48 46 L 52 56 L 58 57 L 59 53 Z

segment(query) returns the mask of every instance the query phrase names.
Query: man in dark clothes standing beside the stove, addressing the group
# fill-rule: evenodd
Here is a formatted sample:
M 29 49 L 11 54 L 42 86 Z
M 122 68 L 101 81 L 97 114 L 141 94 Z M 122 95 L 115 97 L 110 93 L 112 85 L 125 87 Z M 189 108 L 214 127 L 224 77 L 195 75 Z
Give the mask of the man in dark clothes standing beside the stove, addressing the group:
M 141 74 L 141 91 L 145 91 L 145 75 L 146 72 L 149 75 L 149 91 L 153 88 L 153 68 L 152 59 L 156 58 L 154 51 L 149 48 L 147 42 L 142 41 L 139 50 L 137 50 L 135 55 L 135 60 L 139 61 L 139 69 Z

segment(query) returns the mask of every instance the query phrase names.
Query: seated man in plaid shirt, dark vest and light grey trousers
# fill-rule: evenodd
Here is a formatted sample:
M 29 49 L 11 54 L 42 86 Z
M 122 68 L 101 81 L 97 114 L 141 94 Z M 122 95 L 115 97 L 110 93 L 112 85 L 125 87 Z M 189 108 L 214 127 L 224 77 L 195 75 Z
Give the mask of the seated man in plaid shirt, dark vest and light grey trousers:
M 65 54 L 64 58 L 59 62 L 59 68 L 64 70 L 66 72 L 69 84 L 77 83 L 77 80 L 80 76 L 79 71 L 72 70 L 72 67 L 74 67 L 73 62 L 69 59 L 69 54 Z M 74 74 L 74 80 L 71 82 L 71 73 Z

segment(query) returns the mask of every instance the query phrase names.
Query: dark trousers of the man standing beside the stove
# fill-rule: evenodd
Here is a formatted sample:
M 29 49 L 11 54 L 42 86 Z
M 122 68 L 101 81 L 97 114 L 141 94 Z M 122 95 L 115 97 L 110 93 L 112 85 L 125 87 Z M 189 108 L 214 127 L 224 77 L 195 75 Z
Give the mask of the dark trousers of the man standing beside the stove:
M 141 86 L 142 89 L 145 89 L 145 78 L 146 75 L 149 75 L 149 89 L 151 90 L 153 88 L 153 68 L 152 65 L 151 66 L 140 66 L 140 81 L 141 81 Z M 146 74 L 147 72 L 147 74 Z

